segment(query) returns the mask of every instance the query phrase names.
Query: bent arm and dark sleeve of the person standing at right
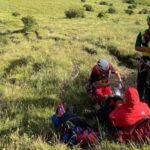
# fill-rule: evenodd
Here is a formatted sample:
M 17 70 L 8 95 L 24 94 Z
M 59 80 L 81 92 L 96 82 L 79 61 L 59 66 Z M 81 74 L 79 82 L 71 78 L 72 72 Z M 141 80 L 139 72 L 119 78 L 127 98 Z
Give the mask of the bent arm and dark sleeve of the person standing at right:
M 138 52 L 146 52 L 146 53 L 150 54 L 150 48 L 142 45 L 142 34 L 141 34 L 141 32 L 137 36 L 136 43 L 135 43 L 135 50 Z

